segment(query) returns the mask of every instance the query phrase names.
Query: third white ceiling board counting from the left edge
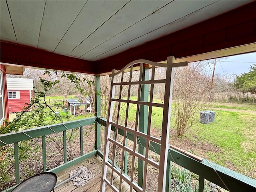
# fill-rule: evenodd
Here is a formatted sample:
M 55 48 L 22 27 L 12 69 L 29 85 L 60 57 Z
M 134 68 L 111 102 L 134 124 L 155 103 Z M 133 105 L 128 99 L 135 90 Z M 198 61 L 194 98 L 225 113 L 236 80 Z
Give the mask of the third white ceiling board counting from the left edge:
M 46 1 L 38 48 L 53 51 L 85 3 L 86 1 Z

